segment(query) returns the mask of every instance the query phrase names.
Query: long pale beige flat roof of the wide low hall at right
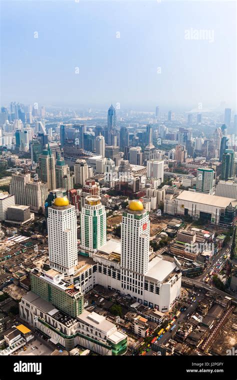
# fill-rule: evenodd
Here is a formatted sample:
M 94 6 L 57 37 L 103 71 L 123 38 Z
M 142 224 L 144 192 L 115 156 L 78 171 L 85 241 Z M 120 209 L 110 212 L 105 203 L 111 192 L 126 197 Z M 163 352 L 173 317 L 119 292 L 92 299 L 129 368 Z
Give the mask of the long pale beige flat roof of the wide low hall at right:
M 221 208 L 226 208 L 229 203 L 232 203 L 232 206 L 237 205 L 237 200 L 234 198 L 225 198 L 222 196 L 202 194 L 200 192 L 186 191 L 183 190 L 179 195 L 176 196 L 176 199 L 186 200 L 192 203 L 201 203 L 208 206 L 216 206 Z

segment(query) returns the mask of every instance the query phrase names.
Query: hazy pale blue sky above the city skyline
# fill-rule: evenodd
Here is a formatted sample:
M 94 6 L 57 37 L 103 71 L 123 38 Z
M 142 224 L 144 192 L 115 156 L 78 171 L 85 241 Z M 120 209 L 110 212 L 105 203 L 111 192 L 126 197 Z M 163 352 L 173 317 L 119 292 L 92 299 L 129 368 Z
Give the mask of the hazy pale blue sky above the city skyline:
M 1 105 L 14 100 L 106 108 L 119 102 L 121 108 L 189 110 L 224 100 L 233 108 L 235 6 L 1 1 Z

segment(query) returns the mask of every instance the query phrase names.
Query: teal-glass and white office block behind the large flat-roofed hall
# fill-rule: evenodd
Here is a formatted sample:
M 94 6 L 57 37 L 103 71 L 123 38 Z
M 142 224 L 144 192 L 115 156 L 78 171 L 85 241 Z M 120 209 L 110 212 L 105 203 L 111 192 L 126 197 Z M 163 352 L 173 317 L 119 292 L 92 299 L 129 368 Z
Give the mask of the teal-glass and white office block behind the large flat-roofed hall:
M 215 172 L 213 169 L 198 168 L 196 171 L 196 192 L 214 195 Z

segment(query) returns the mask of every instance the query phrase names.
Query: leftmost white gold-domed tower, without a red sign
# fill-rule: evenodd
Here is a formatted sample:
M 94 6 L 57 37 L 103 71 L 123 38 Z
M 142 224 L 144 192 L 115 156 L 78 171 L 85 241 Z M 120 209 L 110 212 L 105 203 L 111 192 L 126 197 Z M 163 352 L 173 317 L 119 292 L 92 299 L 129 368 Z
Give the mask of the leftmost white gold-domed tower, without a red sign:
M 48 207 L 48 255 L 51 268 L 74 274 L 77 264 L 76 213 L 67 197 L 56 197 Z

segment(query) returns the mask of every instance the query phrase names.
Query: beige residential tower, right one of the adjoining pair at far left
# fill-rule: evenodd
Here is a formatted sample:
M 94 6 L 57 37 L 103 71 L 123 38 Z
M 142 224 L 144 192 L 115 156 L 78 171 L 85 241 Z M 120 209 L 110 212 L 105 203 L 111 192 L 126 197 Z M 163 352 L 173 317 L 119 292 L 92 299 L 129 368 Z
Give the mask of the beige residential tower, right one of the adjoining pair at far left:
M 40 208 L 43 208 L 47 194 L 47 184 L 40 179 L 31 180 L 25 185 L 26 204 L 33 212 L 38 212 Z

